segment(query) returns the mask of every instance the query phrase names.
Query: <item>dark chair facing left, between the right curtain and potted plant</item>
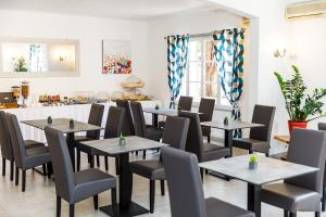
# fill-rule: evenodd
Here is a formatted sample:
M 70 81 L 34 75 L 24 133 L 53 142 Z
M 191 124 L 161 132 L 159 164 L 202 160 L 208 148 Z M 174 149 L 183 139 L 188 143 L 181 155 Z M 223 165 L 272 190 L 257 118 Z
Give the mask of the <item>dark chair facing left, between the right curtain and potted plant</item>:
M 234 139 L 233 146 L 248 150 L 250 154 L 260 152 L 268 156 L 275 110 L 274 106 L 255 105 L 252 123 L 262 124 L 264 126 L 251 128 L 249 138 Z

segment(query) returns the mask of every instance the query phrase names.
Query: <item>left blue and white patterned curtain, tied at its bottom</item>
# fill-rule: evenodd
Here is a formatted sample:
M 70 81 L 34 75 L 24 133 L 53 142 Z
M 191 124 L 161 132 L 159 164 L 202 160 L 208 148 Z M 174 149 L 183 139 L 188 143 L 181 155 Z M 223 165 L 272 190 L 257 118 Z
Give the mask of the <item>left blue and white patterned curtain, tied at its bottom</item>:
M 175 108 L 175 100 L 180 93 L 183 78 L 187 68 L 189 36 L 167 37 L 167 69 L 171 91 L 170 107 Z

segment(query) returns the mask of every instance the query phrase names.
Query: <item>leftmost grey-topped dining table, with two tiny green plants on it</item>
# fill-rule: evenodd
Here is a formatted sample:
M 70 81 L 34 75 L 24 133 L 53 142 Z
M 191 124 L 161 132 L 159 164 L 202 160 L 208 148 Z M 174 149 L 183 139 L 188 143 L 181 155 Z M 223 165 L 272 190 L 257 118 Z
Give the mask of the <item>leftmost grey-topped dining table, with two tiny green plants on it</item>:
M 67 148 L 71 155 L 73 169 L 76 170 L 76 163 L 75 163 L 75 133 L 76 132 L 85 132 L 85 131 L 92 131 L 92 130 L 101 130 L 103 129 L 100 126 L 90 125 L 87 123 L 82 123 L 78 120 L 74 120 L 74 126 L 70 126 L 70 118 L 52 118 L 52 123 L 49 124 L 48 119 L 32 119 L 32 120 L 22 120 L 21 123 L 28 125 L 30 127 L 35 127 L 40 130 L 45 130 L 46 127 L 52 127 L 57 130 L 62 131 L 66 135 Z

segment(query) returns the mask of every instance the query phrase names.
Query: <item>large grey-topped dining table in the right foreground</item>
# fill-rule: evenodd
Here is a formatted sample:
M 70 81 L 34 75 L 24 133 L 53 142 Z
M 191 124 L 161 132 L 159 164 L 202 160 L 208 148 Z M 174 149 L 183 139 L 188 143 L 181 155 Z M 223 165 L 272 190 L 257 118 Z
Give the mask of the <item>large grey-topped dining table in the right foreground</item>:
M 199 167 L 247 182 L 247 208 L 261 217 L 261 189 L 264 184 L 317 171 L 318 168 L 259 156 L 256 169 L 249 169 L 251 155 L 200 163 Z

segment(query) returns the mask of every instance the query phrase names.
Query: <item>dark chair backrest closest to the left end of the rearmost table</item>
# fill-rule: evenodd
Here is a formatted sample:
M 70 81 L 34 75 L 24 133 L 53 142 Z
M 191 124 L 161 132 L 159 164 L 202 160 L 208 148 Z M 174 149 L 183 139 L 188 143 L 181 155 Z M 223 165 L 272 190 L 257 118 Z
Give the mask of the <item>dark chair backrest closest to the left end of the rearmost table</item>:
M 130 102 L 131 113 L 134 117 L 134 129 L 137 137 L 146 137 L 146 122 L 141 104 L 139 102 Z

